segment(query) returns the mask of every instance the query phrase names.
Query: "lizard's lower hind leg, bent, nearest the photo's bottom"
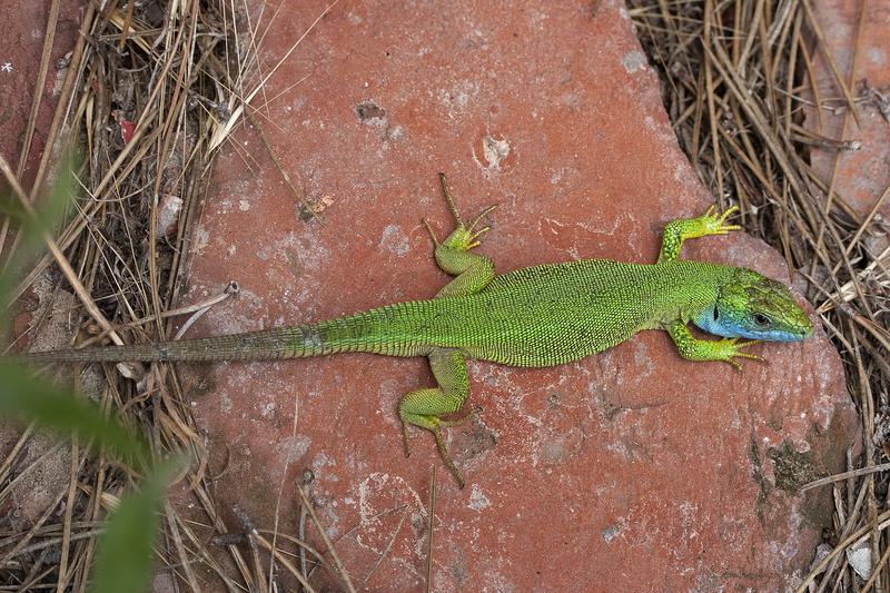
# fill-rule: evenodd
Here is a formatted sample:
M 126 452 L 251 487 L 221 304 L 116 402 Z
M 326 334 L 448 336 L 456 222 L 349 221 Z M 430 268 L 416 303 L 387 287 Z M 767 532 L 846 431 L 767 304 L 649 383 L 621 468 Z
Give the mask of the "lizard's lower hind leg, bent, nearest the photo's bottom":
M 464 477 L 448 455 L 443 426 L 453 426 L 455 421 L 442 419 L 443 416 L 461 409 L 469 395 L 469 377 L 466 373 L 464 355 L 455 349 L 436 349 L 429 355 L 429 367 L 438 387 L 417 389 L 408 393 L 398 403 L 398 417 L 402 419 L 402 435 L 405 442 L 405 455 L 408 449 L 408 426 L 417 426 L 433 433 L 436 448 L 445 467 L 454 476 L 459 487 L 464 487 Z M 469 415 L 467 415 L 469 416 Z M 466 416 L 463 418 L 465 419 Z

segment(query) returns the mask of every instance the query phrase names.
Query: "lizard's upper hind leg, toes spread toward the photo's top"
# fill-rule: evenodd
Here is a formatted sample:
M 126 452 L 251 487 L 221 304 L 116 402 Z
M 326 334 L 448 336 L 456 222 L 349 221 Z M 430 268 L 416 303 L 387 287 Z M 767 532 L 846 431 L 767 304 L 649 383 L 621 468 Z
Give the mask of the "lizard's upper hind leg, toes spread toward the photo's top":
M 452 199 L 451 191 L 448 191 L 448 181 L 445 179 L 445 174 L 441 172 L 438 177 L 442 182 L 442 192 L 445 195 L 445 201 L 448 202 L 448 209 L 454 216 L 457 228 L 444 241 L 439 243 L 429 224 L 424 219 L 426 229 L 436 246 L 436 264 L 446 274 L 456 276 L 438 291 L 436 297 L 472 295 L 485 288 L 494 278 L 494 264 L 492 260 L 485 256 L 471 253 L 471 249 L 478 247 L 479 238 L 490 230 L 487 226 L 478 229 L 476 227 L 495 206 L 485 208 L 473 219 L 469 226 L 464 225 L 461 214 Z

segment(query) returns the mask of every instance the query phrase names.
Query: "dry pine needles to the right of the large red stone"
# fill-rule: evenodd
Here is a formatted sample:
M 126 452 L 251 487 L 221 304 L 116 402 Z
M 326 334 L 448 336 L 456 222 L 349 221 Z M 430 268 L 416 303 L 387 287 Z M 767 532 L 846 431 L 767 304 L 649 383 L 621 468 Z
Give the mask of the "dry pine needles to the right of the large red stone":
M 876 416 L 886 415 L 890 386 L 890 279 L 884 267 L 890 251 L 873 253 L 872 241 L 863 240 L 877 237 L 873 243 L 880 244 L 886 235 L 876 221 L 877 206 L 860 216 L 834 191 L 837 166 L 824 180 L 808 160 L 813 145 L 839 155 L 854 148 L 843 134 L 859 117 L 856 81 L 839 71 L 822 43 L 809 0 L 630 4 L 659 68 L 681 146 L 702 182 L 720 199 L 738 200 L 746 230 L 771 243 L 809 279 L 808 297 L 841 354 L 850 394 L 861 412 L 862 454 L 849 461 L 849 473 L 812 485 L 833 488 L 834 531 L 801 590 L 887 591 L 890 467 L 878 465 L 888 447 L 887 427 L 876 426 Z M 858 48 L 858 39 L 851 42 Z M 840 97 L 824 97 L 812 88 L 817 53 L 842 89 Z M 820 126 L 822 109 L 846 107 L 842 137 L 823 138 L 805 129 L 805 106 L 818 106 L 813 111 Z M 874 196 L 876 204 L 886 194 Z M 846 561 L 848 546 L 862 538 L 877 566 L 867 583 Z

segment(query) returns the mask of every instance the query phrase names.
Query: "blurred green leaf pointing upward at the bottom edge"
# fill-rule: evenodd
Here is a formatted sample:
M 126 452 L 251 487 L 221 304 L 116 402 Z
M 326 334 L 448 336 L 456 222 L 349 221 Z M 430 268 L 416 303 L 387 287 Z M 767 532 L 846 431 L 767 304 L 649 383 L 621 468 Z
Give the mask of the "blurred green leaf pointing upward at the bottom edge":
M 156 467 L 141 490 L 125 496 L 109 517 L 98 544 L 92 570 L 92 593 L 148 591 L 158 532 L 158 515 L 167 486 L 182 466 L 174 457 Z

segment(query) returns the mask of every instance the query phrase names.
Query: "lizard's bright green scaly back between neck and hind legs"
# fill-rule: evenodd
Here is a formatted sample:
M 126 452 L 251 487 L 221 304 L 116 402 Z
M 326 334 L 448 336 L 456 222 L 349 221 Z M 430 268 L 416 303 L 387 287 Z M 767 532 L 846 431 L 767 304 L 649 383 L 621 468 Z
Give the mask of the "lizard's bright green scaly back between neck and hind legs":
M 662 319 L 691 318 L 715 299 L 714 277 L 730 270 L 701 261 L 611 259 L 521 268 L 474 295 L 425 302 L 431 308 L 417 338 L 511 366 L 563 364 L 659 327 Z

